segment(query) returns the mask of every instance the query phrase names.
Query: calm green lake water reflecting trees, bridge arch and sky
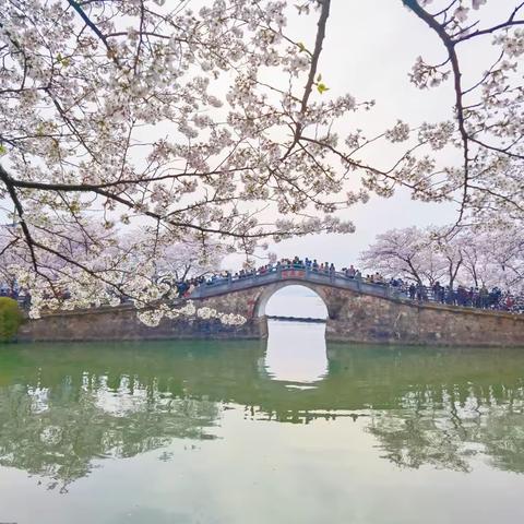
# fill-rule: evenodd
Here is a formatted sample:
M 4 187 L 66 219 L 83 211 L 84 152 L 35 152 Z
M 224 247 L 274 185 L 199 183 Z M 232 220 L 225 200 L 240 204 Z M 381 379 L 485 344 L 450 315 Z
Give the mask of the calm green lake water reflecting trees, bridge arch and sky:
M 0 346 L 0 522 L 524 522 L 524 349 Z

